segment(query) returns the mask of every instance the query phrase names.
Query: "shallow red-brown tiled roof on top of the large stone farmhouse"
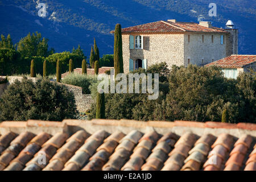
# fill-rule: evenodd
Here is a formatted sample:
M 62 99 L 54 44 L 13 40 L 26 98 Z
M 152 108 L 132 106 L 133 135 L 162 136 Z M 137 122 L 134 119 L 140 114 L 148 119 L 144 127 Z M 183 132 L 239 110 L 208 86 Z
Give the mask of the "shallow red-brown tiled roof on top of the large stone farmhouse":
M 122 33 L 129 32 L 216 32 L 216 33 L 228 33 L 222 28 L 217 27 L 204 27 L 200 26 L 198 23 L 192 22 L 168 22 L 168 21 L 158 21 L 146 24 L 140 24 L 133 27 L 122 28 Z M 114 33 L 111 31 L 110 33 Z

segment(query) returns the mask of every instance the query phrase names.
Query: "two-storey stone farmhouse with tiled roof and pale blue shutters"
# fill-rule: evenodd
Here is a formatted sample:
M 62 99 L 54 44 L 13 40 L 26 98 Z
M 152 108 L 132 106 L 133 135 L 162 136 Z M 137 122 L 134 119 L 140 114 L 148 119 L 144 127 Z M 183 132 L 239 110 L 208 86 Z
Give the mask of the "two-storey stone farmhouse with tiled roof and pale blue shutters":
M 172 65 L 205 65 L 238 54 L 238 30 L 211 22 L 167 21 L 122 28 L 123 68 L 128 73 L 165 61 Z M 110 33 L 114 33 L 111 31 Z

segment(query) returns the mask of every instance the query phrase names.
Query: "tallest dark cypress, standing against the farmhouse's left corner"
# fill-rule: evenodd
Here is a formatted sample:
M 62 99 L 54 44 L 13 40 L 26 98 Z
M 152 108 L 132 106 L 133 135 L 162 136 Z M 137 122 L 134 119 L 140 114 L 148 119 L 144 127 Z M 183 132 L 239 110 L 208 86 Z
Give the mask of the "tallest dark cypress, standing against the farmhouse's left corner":
M 114 68 L 115 76 L 123 73 L 123 51 L 122 51 L 122 30 L 121 24 L 115 26 L 114 34 Z

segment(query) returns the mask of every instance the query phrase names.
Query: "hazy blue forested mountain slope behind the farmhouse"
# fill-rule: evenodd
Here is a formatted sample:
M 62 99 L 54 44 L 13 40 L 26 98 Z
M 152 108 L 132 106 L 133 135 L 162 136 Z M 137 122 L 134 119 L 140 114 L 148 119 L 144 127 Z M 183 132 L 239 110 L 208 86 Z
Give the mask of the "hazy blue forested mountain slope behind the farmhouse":
M 47 16 L 38 16 L 38 3 L 46 3 Z M 209 17 L 210 0 L 0 0 L 0 33 L 11 34 L 14 42 L 28 32 L 39 31 L 49 39 L 56 52 L 71 51 L 80 44 L 89 55 L 93 37 L 100 53 L 113 53 L 113 35 L 116 23 L 122 27 L 177 19 L 185 22 L 210 20 L 213 26 L 225 27 L 232 19 L 239 29 L 239 53 L 256 54 L 256 1 L 216 0 L 217 17 Z

